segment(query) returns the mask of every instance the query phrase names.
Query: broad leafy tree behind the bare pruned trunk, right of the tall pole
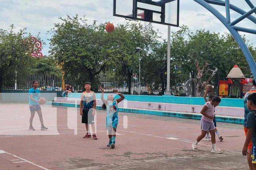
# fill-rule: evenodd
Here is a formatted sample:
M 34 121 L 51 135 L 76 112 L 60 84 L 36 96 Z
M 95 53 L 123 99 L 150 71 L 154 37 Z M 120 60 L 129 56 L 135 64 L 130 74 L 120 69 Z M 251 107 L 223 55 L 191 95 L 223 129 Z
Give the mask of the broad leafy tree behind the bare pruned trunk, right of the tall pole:
M 249 43 L 245 36 L 243 39 L 247 44 Z M 255 48 L 252 45 L 248 45 L 248 47 L 255 57 Z M 172 34 L 171 56 L 177 67 L 182 70 L 182 74 L 190 74 L 195 82 L 198 82 L 196 78 L 198 68 L 204 68 L 205 62 L 208 63 L 208 67 L 205 74 L 200 77 L 202 82 L 208 81 L 208 78 L 212 76 L 210 70 L 217 68 L 217 76 L 215 75 L 212 80 L 217 85 L 217 81 L 225 79 L 235 64 L 238 64 L 245 76 L 251 76 L 245 56 L 232 35 L 228 33 L 221 35 L 220 33 L 210 33 L 209 30 L 197 30 L 195 33 L 191 33 L 187 26 L 182 26 L 180 30 Z M 196 60 L 198 68 L 195 64 Z M 203 90 L 205 86 L 193 84 L 193 96 L 195 96 L 196 88 Z M 197 95 L 199 94 L 197 93 Z

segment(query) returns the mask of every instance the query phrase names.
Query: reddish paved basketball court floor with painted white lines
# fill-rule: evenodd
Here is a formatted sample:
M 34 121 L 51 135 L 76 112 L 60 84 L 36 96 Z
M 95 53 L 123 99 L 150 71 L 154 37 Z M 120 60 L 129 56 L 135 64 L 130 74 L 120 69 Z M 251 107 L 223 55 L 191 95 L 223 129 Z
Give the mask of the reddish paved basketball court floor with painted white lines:
M 243 125 L 217 122 L 224 137 L 216 140 L 223 154 L 211 153 L 211 142 L 191 144 L 200 134 L 200 121 L 118 112 L 116 147 L 107 147 L 106 111 L 97 110 L 97 137 L 82 138 L 85 125 L 79 108 L 42 105 L 48 130 L 28 130 L 28 104 L 0 104 L 0 169 L 248 169 L 242 155 Z

